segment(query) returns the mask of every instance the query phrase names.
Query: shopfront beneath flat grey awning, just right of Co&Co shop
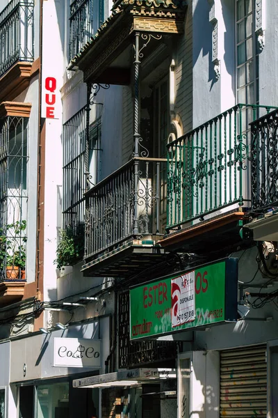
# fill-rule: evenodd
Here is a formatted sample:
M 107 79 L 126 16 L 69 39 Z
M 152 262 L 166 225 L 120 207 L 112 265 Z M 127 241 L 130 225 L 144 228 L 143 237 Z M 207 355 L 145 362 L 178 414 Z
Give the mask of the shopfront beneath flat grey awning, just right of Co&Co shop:
M 74 388 L 101 389 L 101 417 L 168 418 L 177 413 L 174 369 L 131 369 L 76 379 Z

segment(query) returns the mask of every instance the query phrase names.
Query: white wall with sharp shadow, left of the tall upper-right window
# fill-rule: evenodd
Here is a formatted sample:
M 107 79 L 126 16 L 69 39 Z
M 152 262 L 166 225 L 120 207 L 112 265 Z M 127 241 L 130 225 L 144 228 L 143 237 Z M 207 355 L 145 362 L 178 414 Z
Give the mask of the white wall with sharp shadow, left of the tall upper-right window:
M 213 24 L 208 1 L 193 0 L 193 127 L 235 104 L 234 2 L 215 0 L 220 78 L 212 62 Z

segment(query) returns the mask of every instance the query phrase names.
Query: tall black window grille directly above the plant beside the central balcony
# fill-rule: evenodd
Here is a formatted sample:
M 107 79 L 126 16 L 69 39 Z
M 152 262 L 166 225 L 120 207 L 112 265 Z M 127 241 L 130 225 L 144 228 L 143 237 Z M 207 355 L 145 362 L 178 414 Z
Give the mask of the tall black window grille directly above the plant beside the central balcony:
M 85 221 L 86 188 L 85 145 L 86 107 L 83 107 L 63 126 L 63 229 L 74 236 L 83 235 Z M 100 176 L 101 155 L 100 121 L 90 126 L 89 171 L 92 182 Z

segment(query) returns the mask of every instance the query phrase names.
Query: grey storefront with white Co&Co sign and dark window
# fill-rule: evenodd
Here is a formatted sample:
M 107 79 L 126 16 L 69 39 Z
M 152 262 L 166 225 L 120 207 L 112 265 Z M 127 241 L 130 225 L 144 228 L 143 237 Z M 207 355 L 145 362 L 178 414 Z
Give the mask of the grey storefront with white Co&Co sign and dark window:
M 11 342 L 10 387 L 19 418 L 100 416 L 99 389 L 79 391 L 72 382 L 105 370 L 110 320 L 107 316 Z

